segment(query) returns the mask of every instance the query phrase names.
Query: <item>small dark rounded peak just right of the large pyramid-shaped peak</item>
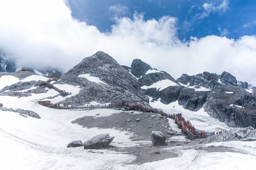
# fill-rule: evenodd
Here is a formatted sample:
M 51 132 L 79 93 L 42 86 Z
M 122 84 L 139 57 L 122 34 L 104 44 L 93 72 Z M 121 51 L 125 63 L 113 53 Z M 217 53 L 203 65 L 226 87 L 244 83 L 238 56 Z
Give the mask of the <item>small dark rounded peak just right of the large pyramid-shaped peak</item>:
M 145 74 L 147 70 L 150 70 L 150 69 L 151 69 L 151 66 L 141 61 L 141 59 L 134 59 L 132 61 L 131 73 L 137 78 L 141 77 L 141 75 Z

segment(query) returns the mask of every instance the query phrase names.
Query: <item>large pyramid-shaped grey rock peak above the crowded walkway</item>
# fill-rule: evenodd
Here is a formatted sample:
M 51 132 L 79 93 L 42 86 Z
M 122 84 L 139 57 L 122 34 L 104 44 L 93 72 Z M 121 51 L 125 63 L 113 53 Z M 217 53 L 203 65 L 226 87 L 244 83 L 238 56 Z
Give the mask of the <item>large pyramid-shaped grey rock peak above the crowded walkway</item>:
M 98 77 L 104 83 L 78 77 L 86 73 Z M 78 95 L 67 98 L 61 102 L 62 104 L 81 105 L 95 101 L 148 105 L 149 102 L 131 73 L 104 52 L 97 52 L 91 57 L 84 58 L 81 63 L 62 75 L 61 80 L 56 83 L 67 83 L 81 88 Z

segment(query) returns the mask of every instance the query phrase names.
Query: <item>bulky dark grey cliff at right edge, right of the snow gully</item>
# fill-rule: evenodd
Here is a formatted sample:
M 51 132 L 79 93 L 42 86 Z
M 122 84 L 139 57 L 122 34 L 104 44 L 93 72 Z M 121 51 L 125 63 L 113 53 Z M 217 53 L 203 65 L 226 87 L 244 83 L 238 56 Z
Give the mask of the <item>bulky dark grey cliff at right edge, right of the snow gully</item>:
M 255 127 L 255 94 L 238 86 L 220 86 L 209 93 L 205 111 L 229 127 Z

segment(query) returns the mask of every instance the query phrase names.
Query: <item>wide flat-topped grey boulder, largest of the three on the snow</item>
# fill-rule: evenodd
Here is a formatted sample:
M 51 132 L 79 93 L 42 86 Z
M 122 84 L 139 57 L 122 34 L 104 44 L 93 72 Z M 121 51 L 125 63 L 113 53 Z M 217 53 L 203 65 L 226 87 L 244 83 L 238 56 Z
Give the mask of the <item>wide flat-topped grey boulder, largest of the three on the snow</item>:
M 84 149 L 100 149 L 106 148 L 113 141 L 114 137 L 109 137 L 109 134 L 96 135 L 92 139 L 84 142 Z

